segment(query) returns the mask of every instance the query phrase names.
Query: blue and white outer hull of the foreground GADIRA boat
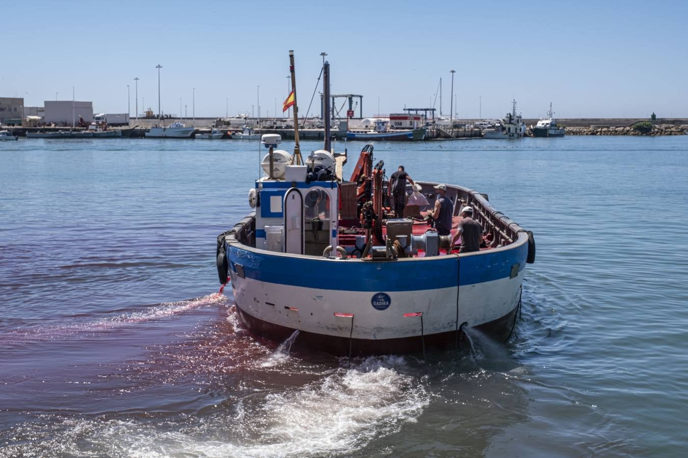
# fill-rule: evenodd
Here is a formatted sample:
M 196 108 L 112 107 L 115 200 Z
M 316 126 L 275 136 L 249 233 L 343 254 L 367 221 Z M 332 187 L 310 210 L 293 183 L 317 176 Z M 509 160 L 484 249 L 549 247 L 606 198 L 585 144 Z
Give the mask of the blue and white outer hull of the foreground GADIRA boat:
M 299 330 L 299 339 L 334 354 L 348 354 L 351 338 L 352 354 L 389 354 L 420 351 L 421 340 L 430 347 L 451 345 L 464 323 L 508 332 L 528 240 L 477 253 L 379 262 L 235 243 L 225 249 L 237 310 L 252 331 L 279 340 Z

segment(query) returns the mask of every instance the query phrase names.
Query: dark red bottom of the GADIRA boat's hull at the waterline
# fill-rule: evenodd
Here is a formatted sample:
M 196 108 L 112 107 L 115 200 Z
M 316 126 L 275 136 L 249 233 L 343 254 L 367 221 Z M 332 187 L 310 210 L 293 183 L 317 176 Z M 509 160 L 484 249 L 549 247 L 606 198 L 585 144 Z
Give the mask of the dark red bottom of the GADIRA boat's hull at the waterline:
M 237 306 L 239 317 L 244 321 L 251 332 L 264 336 L 272 341 L 284 341 L 295 330 L 286 326 L 268 323 L 241 310 Z M 497 341 L 504 341 L 508 338 L 510 331 L 515 325 L 516 312 L 514 308 L 502 318 L 495 319 L 488 323 L 477 326 L 477 329 L 493 336 Z M 316 334 L 314 332 L 299 332 L 299 336 L 294 342 L 295 347 L 327 352 L 337 356 L 369 356 L 380 354 L 409 354 L 420 353 L 423 344 L 426 350 L 453 350 L 464 340 L 462 332 L 449 331 L 439 334 L 429 334 L 424 337 L 402 337 L 399 339 L 349 339 L 348 337 L 328 336 Z

